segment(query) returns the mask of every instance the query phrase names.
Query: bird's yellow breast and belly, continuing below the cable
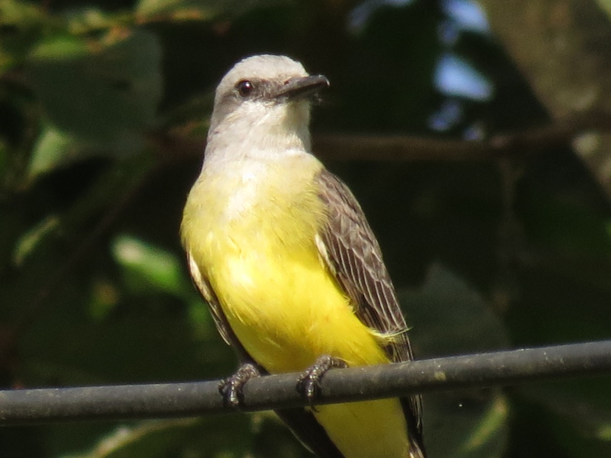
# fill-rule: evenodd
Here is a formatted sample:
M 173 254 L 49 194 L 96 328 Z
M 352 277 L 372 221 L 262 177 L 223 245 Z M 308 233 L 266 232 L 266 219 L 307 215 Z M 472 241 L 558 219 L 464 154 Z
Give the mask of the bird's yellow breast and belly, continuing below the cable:
M 386 363 L 319 255 L 321 164 L 301 159 L 257 170 L 257 180 L 204 171 L 185 208 L 185 248 L 240 343 L 269 373 L 301 371 L 323 354 L 349 366 Z M 320 406 L 315 416 L 346 457 L 408 456 L 398 399 Z

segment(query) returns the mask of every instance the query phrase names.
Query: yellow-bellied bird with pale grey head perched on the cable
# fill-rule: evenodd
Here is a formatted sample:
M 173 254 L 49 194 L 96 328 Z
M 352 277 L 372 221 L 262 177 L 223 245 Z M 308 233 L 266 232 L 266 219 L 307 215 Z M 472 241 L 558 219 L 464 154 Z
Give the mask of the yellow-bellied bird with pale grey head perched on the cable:
M 323 75 L 260 54 L 221 79 L 181 242 L 216 327 L 243 365 L 222 386 L 239 404 L 260 374 L 301 372 L 315 398 L 334 367 L 413 359 L 378 241 L 343 181 L 313 155 Z M 424 458 L 420 396 L 309 405 L 277 415 L 321 458 Z

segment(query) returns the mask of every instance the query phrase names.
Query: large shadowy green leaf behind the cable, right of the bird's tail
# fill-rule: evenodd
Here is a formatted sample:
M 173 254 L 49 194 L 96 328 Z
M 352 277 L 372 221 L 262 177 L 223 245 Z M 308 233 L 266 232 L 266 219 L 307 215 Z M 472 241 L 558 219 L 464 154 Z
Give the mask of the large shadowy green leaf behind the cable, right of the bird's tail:
M 417 358 L 508 347 L 502 321 L 486 301 L 441 264 L 419 291 L 400 291 Z M 498 389 L 424 396 L 423 429 L 430 456 L 501 457 L 507 448 L 509 405 Z

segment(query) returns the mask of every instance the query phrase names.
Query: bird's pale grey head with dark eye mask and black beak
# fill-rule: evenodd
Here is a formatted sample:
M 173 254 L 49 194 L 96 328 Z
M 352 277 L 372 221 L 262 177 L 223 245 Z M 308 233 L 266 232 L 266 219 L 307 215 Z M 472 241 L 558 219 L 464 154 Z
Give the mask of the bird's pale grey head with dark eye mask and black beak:
M 328 85 L 324 76 L 310 76 L 286 56 L 262 54 L 240 60 L 216 89 L 208 141 L 231 136 L 232 142 L 263 142 L 279 135 L 298 136 L 309 145 L 310 102 Z

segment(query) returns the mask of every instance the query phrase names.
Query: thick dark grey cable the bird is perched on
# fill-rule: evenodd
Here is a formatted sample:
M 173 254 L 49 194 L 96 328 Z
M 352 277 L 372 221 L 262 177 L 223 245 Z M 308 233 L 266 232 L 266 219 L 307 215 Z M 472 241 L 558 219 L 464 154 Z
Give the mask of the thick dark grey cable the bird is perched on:
M 332 369 L 318 404 L 611 374 L 611 340 Z M 298 374 L 249 380 L 243 410 L 307 404 Z M 218 381 L 0 391 L 0 425 L 228 413 Z

